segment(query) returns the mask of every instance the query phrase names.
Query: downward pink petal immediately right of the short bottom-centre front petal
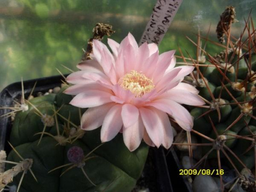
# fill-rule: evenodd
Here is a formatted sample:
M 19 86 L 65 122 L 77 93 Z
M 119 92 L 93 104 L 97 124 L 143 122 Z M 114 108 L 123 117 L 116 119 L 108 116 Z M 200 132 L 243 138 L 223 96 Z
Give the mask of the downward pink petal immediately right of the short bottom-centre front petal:
M 163 142 L 164 132 L 163 124 L 156 113 L 156 109 L 140 108 L 139 111 L 148 136 L 159 147 Z

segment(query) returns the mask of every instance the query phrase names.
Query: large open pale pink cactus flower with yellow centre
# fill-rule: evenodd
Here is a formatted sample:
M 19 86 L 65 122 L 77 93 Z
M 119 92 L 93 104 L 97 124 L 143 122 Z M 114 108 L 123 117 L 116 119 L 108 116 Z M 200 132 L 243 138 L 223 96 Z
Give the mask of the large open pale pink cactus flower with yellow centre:
M 143 139 L 151 146 L 169 148 L 173 142 L 168 115 L 184 130 L 193 127 L 193 118 L 181 105 L 202 105 L 198 90 L 181 82 L 194 67 L 176 67 L 175 51 L 159 55 L 156 44 L 138 47 L 131 33 L 120 44 L 108 39 L 113 52 L 93 40 L 92 60 L 67 77 L 74 84 L 65 93 L 76 95 L 70 104 L 89 108 L 81 118 L 83 130 L 101 126 L 101 141 L 112 140 L 119 132 L 130 151 Z

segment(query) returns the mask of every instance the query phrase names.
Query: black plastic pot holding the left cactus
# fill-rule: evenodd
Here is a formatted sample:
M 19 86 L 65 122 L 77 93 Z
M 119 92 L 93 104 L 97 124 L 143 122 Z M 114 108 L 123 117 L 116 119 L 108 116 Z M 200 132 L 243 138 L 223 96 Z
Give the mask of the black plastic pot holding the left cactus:
M 49 89 L 53 89 L 54 87 L 59 87 L 61 84 L 61 80 L 63 78 L 61 76 L 52 76 L 45 77 L 39 79 L 33 79 L 24 81 L 24 92 L 25 97 L 30 94 L 32 88 L 36 82 L 36 87 L 34 89 L 34 93 L 38 92 L 47 92 Z M 20 98 L 22 95 L 22 84 L 21 82 L 12 83 L 7 86 L 0 93 L 0 106 L 12 106 L 13 100 L 15 98 Z M 0 110 L 0 116 L 8 113 L 9 111 L 4 109 Z M 10 151 L 10 147 L 6 144 L 11 131 L 11 121 L 10 118 L 1 118 L 0 119 L 0 150 Z M 167 163 L 165 159 L 165 154 L 163 148 L 151 148 L 150 149 L 151 159 L 154 163 L 154 170 L 145 170 L 147 166 L 145 166 L 143 173 L 144 177 L 148 177 L 148 175 L 154 175 L 156 182 L 156 191 L 151 192 L 176 192 L 177 190 L 173 190 L 172 184 L 170 182 L 169 172 L 167 168 Z M 149 159 L 149 158 L 148 158 Z M 151 162 L 146 162 L 150 164 Z M 152 174 L 147 174 L 148 172 L 154 172 Z M 148 179 L 147 179 L 148 180 Z M 121 192 L 121 191 L 120 191 Z

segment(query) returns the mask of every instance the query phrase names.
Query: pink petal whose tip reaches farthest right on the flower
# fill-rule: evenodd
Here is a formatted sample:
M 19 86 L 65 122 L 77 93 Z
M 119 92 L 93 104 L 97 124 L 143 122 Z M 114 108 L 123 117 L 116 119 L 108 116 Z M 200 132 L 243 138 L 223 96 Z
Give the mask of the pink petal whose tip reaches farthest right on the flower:
M 169 90 L 162 98 L 193 106 L 205 104 L 201 97 L 185 90 Z

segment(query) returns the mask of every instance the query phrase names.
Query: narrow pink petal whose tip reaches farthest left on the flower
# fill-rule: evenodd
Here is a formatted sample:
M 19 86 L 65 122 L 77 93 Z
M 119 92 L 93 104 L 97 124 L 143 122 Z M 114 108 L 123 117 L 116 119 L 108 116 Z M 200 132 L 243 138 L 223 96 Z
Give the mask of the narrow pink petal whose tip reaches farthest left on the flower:
M 77 95 L 81 92 L 86 92 L 90 90 L 98 90 L 98 91 L 104 91 L 111 93 L 111 90 L 108 88 L 105 88 L 101 86 L 98 83 L 83 83 L 83 84 L 75 84 L 74 86 L 69 87 L 63 93 L 69 94 L 69 95 Z

